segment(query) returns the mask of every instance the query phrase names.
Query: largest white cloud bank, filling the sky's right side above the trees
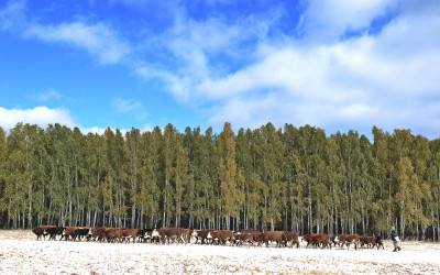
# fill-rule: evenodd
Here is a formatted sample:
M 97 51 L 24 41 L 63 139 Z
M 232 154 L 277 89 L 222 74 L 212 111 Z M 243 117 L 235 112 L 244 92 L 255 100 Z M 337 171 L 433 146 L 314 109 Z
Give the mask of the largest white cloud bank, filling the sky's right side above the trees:
M 334 33 L 367 26 L 392 2 L 372 3 L 359 21 L 342 18 L 343 26 Z M 307 46 L 297 40 L 272 46 L 266 42 L 253 64 L 186 89 L 193 91 L 193 101 L 216 103 L 208 113 L 217 125 L 230 121 L 258 127 L 272 121 L 367 134 L 376 124 L 438 138 L 440 116 L 432 102 L 440 102 L 440 40 L 432 34 L 440 31 L 440 13 L 439 7 L 422 11 L 402 12 L 377 35 Z

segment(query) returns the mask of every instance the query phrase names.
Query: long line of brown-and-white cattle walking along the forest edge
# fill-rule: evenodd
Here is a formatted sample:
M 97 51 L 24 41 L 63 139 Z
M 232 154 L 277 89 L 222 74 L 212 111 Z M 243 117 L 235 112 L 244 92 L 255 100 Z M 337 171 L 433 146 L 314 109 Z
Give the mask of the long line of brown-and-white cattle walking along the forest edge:
M 57 228 L 55 226 L 45 226 L 33 228 L 32 232 L 36 239 L 42 237 L 48 240 L 72 241 L 101 241 L 101 242 L 151 242 L 151 243 L 200 243 L 200 244 L 222 244 L 222 245 L 250 245 L 265 246 L 275 245 L 299 248 L 298 233 L 295 231 L 267 231 L 260 232 L 256 230 L 242 230 L 234 232 L 232 230 L 190 230 L 184 228 L 161 228 L 161 229 L 120 229 L 120 228 Z M 358 248 L 383 248 L 384 244 L 381 237 L 360 237 L 359 234 L 308 234 L 302 237 L 302 241 L 307 242 L 306 248 L 331 249 L 331 246 L 340 246 L 350 249 L 353 244 Z

